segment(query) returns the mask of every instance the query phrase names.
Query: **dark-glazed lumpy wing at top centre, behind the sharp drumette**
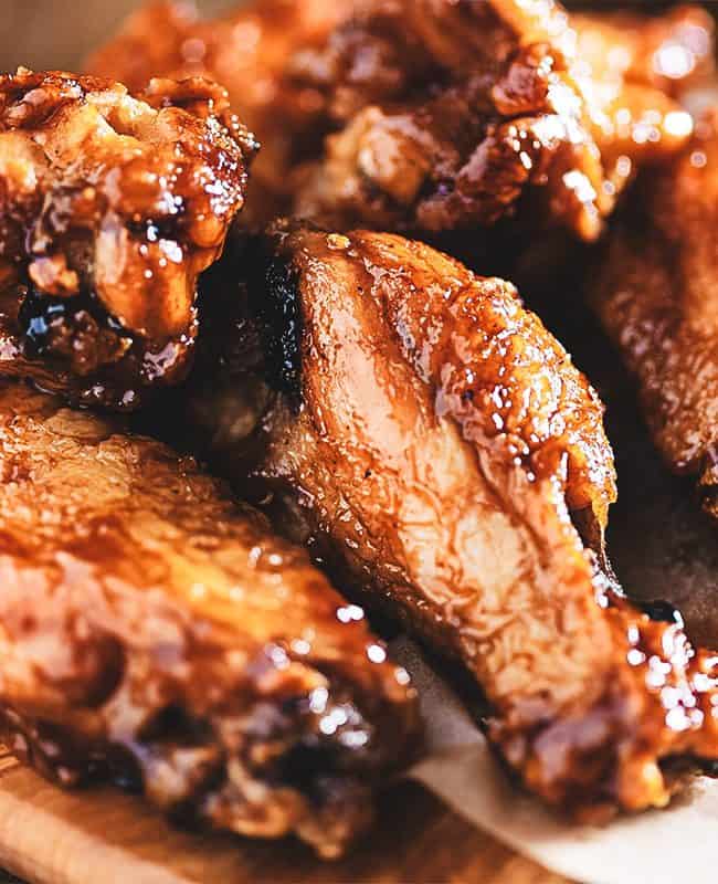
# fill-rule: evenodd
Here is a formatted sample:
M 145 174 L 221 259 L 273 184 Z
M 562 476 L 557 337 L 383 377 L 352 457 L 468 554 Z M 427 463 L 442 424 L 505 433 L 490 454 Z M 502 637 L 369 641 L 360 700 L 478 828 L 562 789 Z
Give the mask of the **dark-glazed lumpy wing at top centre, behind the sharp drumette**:
M 602 52 L 615 30 L 592 31 Z M 490 225 L 528 193 L 553 223 L 595 239 L 634 167 L 690 135 L 638 61 L 643 39 L 679 29 L 671 19 L 638 30 L 614 48 L 625 70 L 594 72 L 556 2 L 369 0 L 292 66 L 338 127 L 307 169 L 297 214 L 433 233 Z

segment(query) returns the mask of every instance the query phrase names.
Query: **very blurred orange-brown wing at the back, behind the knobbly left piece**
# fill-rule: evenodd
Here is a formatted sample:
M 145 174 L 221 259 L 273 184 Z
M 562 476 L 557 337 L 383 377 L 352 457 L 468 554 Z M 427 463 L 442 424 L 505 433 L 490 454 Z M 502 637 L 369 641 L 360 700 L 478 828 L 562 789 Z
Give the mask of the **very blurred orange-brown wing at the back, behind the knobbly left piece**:
M 87 70 L 141 90 L 152 76 L 205 75 L 226 86 L 233 108 L 257 135 L 262 151 L 252 169 L 249 222 L 286 208 L 291 166 L 318 151 L 319 96 L 283 81 L 287 59 L 323 41 L 353 0 L 254 0 L 218 19 L 201 20 L 192 3 L 151 3 L 87 62 Z

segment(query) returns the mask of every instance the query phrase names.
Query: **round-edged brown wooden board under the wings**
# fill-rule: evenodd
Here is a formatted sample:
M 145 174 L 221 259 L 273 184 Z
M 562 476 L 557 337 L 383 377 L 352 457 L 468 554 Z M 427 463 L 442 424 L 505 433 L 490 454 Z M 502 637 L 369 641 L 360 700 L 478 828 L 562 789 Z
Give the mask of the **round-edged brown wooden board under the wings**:
M 198 835 L 112 788 L 63 791 L 0 746 L 0 866 L 30 884 L 566 884 L 444 808 L 388 790 L 374 830 L 340 862 L 291 842 Z

